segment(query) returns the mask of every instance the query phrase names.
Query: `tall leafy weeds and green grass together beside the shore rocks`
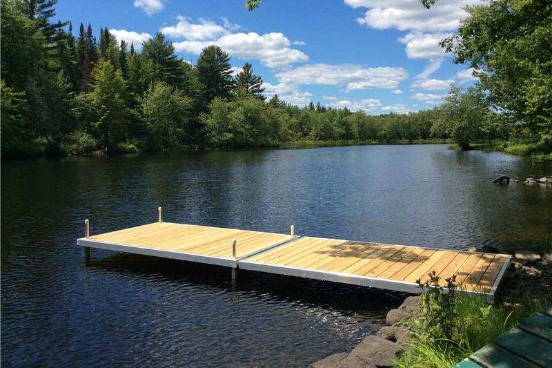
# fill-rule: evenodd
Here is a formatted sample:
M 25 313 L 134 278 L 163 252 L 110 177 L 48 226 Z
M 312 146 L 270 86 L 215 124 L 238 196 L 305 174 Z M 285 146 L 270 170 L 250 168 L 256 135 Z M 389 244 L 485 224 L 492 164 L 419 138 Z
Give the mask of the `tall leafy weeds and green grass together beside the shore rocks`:
M 451 367 L 489 344 L 517 322 L 538 311 L 532 302 L 509 309 L 486 304 L 482 296 L 457 292 L 455 277 L 440 286 L 435 273 L 420 284 L 422 311 L 408 320 L 410 345 L 395 362 L 397 367 Z

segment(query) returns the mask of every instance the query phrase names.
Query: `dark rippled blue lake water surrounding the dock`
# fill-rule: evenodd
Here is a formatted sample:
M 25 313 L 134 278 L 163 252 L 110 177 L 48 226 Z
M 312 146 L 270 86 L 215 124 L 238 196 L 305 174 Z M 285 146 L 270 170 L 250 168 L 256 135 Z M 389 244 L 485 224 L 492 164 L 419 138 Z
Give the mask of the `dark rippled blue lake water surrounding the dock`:
M 3 162 L 1 362 L 11 366 L 305 366 L 351 349 L 404 295 L 92 250 L 164 220 L 462 249 L 551 242 L 552 175 L 529 159 L 351 146 Z

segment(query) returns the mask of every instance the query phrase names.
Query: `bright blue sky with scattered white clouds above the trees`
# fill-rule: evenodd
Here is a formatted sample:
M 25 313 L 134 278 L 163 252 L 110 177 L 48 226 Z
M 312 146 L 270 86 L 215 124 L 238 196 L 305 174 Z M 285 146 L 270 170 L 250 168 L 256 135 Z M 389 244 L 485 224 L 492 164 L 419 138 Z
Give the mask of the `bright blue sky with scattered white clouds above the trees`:
M 107 27 L 135 46 L 162 30 L 177 54 L 195 62 L 201 48 L 221 46 L 239 70 L 262 75 L 266 95 L 370 114 L 440 104 L 451 83 L 473 83 L 437 42 L 451 35 L 466 3 L 440 0 L 265 0 L 253 12 L 244 0 L 59 0 L 57 17 Z

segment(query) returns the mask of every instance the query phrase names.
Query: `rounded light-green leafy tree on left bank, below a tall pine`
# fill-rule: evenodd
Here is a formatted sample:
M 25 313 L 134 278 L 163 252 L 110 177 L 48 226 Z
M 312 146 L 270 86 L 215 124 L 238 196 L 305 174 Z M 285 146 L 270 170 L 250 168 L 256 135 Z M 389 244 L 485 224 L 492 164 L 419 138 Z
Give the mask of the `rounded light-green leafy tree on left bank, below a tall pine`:
M 144 120 L 143 134 L 149 150 L 168 150 L 184 142 L 191 105 L 189 97 L 164 82 L 150 86 L 139 106 Z

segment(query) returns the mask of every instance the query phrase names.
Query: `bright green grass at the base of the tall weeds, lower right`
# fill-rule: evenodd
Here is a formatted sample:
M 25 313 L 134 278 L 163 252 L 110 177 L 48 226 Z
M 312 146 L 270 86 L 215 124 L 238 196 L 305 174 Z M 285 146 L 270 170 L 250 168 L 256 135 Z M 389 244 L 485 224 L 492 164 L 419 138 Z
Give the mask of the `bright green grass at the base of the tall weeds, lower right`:
M 445 339 L 435 330 L 424 331 L 423 323 L 412 320 L 408 323 L 414 337 L 395 362 L 395 367 L 451 367 L 539 309 L 539 305 L 532 302 L 516 308 L 491 306 L 477 296 L 457 294 L 452 340 Z

